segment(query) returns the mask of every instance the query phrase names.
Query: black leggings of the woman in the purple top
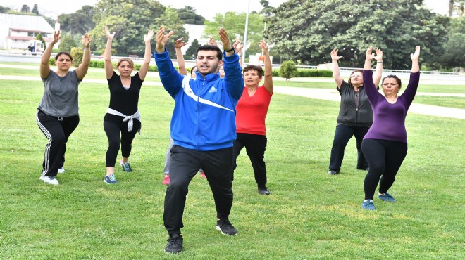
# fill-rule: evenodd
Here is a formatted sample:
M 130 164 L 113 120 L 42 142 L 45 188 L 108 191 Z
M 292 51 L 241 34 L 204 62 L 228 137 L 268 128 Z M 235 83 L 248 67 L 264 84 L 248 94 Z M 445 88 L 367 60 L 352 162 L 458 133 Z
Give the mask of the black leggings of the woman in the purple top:
M 407 143 L 364 139 L 361 150 L 370 167 L 364 182 L 365 200 L 373 200 L 378 182 L 380 193 L 386 193 L 394 183 L 397 171 L 407 155 Z

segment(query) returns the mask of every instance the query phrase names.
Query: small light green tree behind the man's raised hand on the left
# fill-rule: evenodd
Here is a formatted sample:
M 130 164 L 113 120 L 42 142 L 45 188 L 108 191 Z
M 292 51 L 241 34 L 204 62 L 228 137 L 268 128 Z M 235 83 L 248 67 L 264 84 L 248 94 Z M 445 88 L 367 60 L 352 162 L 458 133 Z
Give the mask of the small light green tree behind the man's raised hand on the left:
M 171 36 L 172 41 L 168 41 L 166 44 L 166 49 L 170 53 L 171 58 L 176 57 L 174 41 L 180 39 L 181 37 L 184 38 L 183 41 L 189 41 L 189 34 L 187 34 L 184 27 L 182 27 L 182 20 L 180 20 L 178 13 L 176 13 L 175 9 L 171 7 L 167 7 L 165 9 L 165 13 L 161 15 L 159 18 L 155 19 L 156 25 L 163 25 L 166 32 L 173 31 L 175 32 L 173 36 Z

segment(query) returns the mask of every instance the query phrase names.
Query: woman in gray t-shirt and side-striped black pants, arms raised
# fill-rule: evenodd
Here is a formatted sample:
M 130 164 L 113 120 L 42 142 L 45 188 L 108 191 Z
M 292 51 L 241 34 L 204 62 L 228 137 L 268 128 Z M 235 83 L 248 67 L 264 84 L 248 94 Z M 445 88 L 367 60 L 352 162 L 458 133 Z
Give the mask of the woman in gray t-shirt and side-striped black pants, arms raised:
M 49 60 L 54 44 L 60 39 L 60 31 L 54 32 L 54 40 L 46 47 L 40 63 L 40 77 L 44 82 L 44 96 L 37 108 L 37 125 L 49 143 L 45 145 L 42 176 L 45 183 L 57 185 L 56 174 L 63 173 L 66 142 L 79 124 L 77 86 L 84 79 L 90 63 L 88 34 L 82 36 L 84 56 L 76 70 L 70 71 L 73 56 L 60 51 L 55 56 L 56 71 L 50 70 Z

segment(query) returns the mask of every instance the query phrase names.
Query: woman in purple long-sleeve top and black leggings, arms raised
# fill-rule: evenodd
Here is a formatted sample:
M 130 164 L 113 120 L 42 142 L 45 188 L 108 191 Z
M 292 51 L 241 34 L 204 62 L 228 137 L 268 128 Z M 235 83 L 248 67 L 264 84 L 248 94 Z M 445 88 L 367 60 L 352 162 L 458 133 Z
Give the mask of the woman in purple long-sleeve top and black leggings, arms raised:
M 373 125 L 361 143 L 361 150 L 364 152 L 369 166 L 364 181 L 365 200 L 361 207 L 370 210 L 376 209 L 373 204 L 373 196 L 378 182 L 380 183 L 378 198 L 387 202 L 396 201 L 387 193 L 387 190 L 394 183 L 397 171 L 407 155 L 405 117 L 419 86 L 420 46 L 416 46 L 415 53 L 410 55 L 410 81 L 402 96 L 398 96 L 401 81 L 395 75 L 383 78 L 381 86 L 384 96 L 376 90 L 371 71 L 371 60 L 374 58 L 372 52 L 373 46 L 366 51 L 363 78 L 366 95 L 373 108 Z M 383 57 L 383 52 L 376 49 L 376 56 Z M 382 63 L 381 59 L 377 58 L 376 60 L 378 63 Z

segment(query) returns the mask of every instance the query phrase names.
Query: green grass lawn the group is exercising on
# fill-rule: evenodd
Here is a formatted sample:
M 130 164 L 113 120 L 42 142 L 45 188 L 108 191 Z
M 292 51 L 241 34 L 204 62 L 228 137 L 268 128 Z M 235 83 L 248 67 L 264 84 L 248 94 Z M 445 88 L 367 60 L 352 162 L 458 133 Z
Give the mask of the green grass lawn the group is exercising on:
M 3 68 L 2 68 L 3 71 Z M 29 76 L 37 76 L 31 73 Z M 465 120 L 409 114 L 409 152 L 377 210 L 360 207 L 365 171 L 347 145 L 341 174 L 326 174 L 338 106 L 275 94 L 267 117 L 271 195 L 258 195 L 245 151 L 238 157 L 230 221 L 215 230 L 211 190 L 196 176 L 184 214 L 185 249 L 165 254 L 161 185 L 172 98 L 142 86 L 142 135 L 133 172 L 106 185 L 106 84 L 80 84 L 80 126 L 59 186 L 39 180 L 46 138 L 35 110 L 42 82 L 0 80 L 0 259 L 464 259 Z M 452 88 L 452 86 L 451 86 Z M 416 98 L 419 98 L 418 96 Z M 440 105 L 430 100 L 432 105 Z

